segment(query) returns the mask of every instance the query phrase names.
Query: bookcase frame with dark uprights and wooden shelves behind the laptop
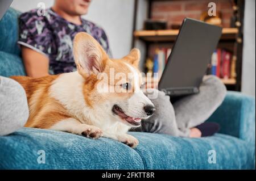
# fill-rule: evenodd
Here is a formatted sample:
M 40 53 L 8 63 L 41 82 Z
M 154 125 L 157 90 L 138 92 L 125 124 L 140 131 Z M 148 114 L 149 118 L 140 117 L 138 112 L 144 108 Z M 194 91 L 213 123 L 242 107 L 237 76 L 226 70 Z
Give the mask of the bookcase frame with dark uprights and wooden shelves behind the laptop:
M 179 30 L 137 30 L 136 22 L 137 22 L 137 13 L 138 9 L 138 1 L 135 0 L 135 11 L 134 11 L 134 27 L 133 27 L 133 43 L 134 47 L 135 41 L 141 41 L 146 50 L 144 61 L 149 56 L 150 47 L 158 45 L 168 45 L 172 47 L 174 44 L 176 37 L 179 33 Z M 147 19 L 151 18 L 152 15 L 152 2 L 154 1 L 176 1 L 176 0 L 147 0 L 148 1 L 148 11 L 147 11 Z M 189 2 L 189 0 L 186 0 Z M 223 28 L 222 36 L 218 43 L 217 48 L 224 48 L 233 53 L 236 57 L 236 77 L 221 79 L 222 82 L 226 85 L 228 90 L 241 91 L 241 74 L 242 74 L 242 49 L 243 49 L 243 12 L 244 12 L 244 0 L 234 0 L 238 7 L 237 11 L 237 22 L 238 26 L 232 28 Z

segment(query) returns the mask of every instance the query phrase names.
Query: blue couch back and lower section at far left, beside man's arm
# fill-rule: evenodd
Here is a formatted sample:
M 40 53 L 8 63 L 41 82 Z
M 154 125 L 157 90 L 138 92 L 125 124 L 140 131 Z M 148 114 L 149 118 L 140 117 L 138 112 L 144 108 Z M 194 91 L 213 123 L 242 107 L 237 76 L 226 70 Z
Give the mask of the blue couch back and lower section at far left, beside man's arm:
M 25 75 L 18 40 L 18 16 L 20 12 L 9 9 L 0 21 L 0 75 Z

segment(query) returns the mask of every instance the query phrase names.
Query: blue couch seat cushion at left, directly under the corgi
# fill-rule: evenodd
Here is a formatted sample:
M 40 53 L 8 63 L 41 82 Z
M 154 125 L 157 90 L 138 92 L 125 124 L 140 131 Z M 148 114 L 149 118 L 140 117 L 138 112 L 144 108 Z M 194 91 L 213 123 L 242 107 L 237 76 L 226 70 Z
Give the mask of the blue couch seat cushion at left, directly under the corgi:
M 39 150 L 45 164 L 37 161 Z M 22 128 L 0 136 L 0 169 L 143 169 L 143 162 L 135 150 L 108 138 Z

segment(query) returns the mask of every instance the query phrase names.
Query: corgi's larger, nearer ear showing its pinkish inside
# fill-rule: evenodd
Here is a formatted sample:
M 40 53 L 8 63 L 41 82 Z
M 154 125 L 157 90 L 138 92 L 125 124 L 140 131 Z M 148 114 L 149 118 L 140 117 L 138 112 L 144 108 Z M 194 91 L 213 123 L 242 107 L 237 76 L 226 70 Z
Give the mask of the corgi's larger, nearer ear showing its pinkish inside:
M 77 71 L 83 76 L 98 74 L 104 71 L 108 54 L 101 45 L 88 33 L 77 33 L 73 41 L 73 54 Z

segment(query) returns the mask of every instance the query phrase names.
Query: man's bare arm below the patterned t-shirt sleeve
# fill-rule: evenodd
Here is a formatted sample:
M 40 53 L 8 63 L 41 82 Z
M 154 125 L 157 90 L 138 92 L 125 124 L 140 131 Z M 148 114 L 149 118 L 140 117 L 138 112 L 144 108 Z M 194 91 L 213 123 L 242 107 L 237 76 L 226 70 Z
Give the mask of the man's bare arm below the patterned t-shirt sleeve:
M 38 78 L 44 77 L 49 71 L 49 58 L 30 48 L 21 47 L 23 64 L 26 69 L 27 76 Z

